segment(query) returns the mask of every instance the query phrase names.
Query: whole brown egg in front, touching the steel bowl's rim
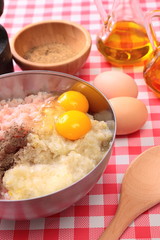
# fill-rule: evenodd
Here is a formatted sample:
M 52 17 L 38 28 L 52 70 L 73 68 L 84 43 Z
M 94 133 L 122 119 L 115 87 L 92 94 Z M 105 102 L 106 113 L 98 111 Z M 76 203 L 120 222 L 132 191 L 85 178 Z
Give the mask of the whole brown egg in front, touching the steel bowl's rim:
M 117 135 L 139 130 L 148 118 L 145 104 L 133 97 L 117 97 L 109 100 L 117 120 Z

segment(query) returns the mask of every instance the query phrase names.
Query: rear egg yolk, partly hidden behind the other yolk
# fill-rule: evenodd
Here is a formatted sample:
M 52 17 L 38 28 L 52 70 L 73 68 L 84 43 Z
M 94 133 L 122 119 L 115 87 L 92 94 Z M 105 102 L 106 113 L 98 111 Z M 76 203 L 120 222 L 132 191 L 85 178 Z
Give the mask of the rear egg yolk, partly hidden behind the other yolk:
M 67 91 L 58 97 L 58 102 L 66 110 L 77 110 L 81 112 L 88 112 L 89 103 L 87 98 L 80 92 Z

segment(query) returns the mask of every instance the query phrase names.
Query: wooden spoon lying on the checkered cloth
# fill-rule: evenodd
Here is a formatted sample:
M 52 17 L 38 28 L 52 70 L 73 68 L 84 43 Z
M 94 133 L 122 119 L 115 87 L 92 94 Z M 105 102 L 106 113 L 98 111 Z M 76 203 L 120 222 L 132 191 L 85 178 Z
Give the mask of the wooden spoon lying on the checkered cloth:
M 160 202 L 160 146 L 140 154 L 127 169 L 116 214 L 99 240 L 117 240 L 141 213 Z

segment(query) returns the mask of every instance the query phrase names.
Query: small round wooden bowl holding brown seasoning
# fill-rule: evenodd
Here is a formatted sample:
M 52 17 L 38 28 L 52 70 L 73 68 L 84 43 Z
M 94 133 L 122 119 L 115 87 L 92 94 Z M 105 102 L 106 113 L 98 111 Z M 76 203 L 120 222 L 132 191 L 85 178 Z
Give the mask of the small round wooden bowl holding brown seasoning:
M 22 70 L 53 70 L 75 74 L 86 62 L 91 44 L 89 32 L 80 24 L 63 20 L 43 21 L 22 28 L 11 40 L 11 52 Z M 42 46 L 45 48 L 43 53 L 40 51 Z M 48 46 L 52 46 L 50 55 L 50 50 L 46 50 Z M 30 52 L 28 58 L 27 52 Z M 66 52 L 68 55 L 65 55 Z M 49 60 L 46 60 L 47 54 Z M 33 57 L 34 61 L 31 59 Z M 44 62 L 38 62 L 40 58 Z

